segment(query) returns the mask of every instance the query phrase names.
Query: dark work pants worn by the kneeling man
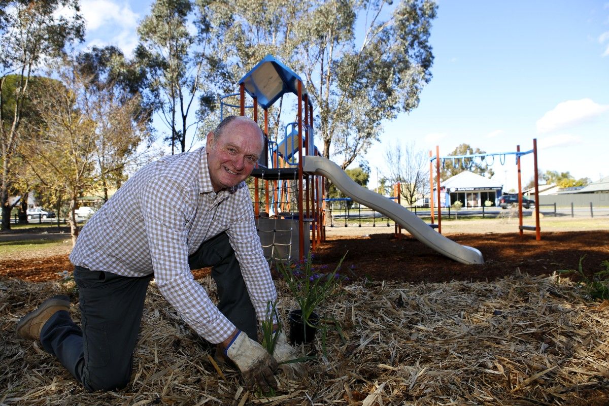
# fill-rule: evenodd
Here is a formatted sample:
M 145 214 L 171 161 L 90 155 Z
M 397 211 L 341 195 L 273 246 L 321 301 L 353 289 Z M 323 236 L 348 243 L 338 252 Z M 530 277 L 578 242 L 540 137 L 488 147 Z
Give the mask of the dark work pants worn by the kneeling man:
M 219 310 L 256 340 L 256 312 L 226 233 L 203 242 L 189 257 L 191 269 L 212 266 Z M 133 366 L 146 290 L 152 275 L 127 278 L 76 267 L 81 327 L 61 310 L 44 324 L 43 348 L 90 391 L 127 386 Z

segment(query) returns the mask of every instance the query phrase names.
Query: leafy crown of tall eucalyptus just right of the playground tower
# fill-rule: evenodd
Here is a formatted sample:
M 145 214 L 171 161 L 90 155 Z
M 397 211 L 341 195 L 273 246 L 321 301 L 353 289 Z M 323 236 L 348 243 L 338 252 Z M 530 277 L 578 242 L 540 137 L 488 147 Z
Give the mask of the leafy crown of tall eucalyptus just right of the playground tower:
M 421 88 L 431 80 L 429 34 L 436 5 L 391 4 L 324 1 L 312 10 L 311 24 L 302 26 L 297 55 L 319 106 L 323 155 L 340 151 L 343 169 L 378 141 L 382 121 L 417 107 Z

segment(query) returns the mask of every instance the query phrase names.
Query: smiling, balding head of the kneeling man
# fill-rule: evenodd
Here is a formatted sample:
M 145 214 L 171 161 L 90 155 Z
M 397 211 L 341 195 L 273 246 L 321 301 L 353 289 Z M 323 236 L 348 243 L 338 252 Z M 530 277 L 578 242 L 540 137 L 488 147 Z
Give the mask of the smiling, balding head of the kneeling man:
M 262 152 L 262 131 L 246 117 L 234 117 L 219 137 L 211 132 L 206 142 L 207 166 L 214 191 L 219 192 L 245 180 Z

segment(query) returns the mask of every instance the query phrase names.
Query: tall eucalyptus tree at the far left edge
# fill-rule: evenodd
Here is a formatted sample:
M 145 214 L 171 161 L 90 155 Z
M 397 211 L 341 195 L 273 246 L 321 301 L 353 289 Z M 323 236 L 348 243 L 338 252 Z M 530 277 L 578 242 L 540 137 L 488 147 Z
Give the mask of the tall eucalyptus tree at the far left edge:
M 60 12 L 61 10 L 61 12 Z M 77 0 L 4 0 L 0 2 L 0 229 L 10 229 L 9 191 L 18 166 L 16 149 L 20 142 L 24 102 L 33 73 L 49 58 L 62 54 L 66 44 L 82 40 L 83 19 Z M 19 78 L 10 112 L 5 112 L 3 90 L 9 75 Z

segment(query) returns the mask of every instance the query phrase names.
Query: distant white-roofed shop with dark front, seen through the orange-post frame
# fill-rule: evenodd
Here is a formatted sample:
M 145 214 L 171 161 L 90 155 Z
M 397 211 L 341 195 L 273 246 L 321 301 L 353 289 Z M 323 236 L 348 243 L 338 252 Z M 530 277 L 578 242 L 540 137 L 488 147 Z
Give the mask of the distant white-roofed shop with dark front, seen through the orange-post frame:
M 463 207 L 495 206 L 496 199 L 501 196 L 503 184 L 494 179 L 485 178 L 477 173 L 464 171 L 440 183 L 440 189 L 445 188 L 449 196 L 449 205 L 459 200 Z

